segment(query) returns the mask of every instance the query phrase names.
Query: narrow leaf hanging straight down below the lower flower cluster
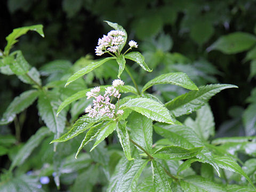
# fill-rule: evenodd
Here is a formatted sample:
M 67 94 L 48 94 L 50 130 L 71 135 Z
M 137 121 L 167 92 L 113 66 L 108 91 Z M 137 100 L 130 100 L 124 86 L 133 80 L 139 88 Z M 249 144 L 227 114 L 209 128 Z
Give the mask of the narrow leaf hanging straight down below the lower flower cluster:
M 125 121 L 121 120 L 117 123 L 116 132 L 121 143 L 121 146 L 124 150 L 124 155 L 126 158 L 131 161 L 133 158 L 131 157 L 131 147 L 130 147 L 130 140 L 129 134 L 126 130 L 126 123 Z

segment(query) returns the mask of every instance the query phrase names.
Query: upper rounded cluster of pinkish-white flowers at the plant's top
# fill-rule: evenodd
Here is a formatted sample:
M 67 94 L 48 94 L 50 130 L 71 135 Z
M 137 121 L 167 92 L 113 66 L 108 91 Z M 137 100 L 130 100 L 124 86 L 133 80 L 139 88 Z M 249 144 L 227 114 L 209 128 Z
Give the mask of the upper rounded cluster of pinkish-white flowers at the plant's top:
M 124 43 L 125 33 L 121 30 L 111 30 L 108 35 L 99 38 L 98 46 L 95 49 L 96 55 L 102 55 L 106 52 L 115 53 L 119 45 Z

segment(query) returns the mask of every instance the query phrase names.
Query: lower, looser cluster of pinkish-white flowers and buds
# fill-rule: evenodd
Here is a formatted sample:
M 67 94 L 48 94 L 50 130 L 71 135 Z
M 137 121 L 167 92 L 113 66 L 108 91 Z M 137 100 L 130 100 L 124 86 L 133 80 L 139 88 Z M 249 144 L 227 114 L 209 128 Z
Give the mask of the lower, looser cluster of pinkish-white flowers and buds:
M 106 115 L 109 118 L 114 118 L 116 115 L 123 115 L 124 111 L 117 110 L 115 113 L 116 106 L 110 102 L 109 97 L 120 98 L 121 94 L 119 89 L 116 89 L 116 86 L 124 85 L 124 82 L 121 79 L 116 79 L 112 83 L 113 86 L 109 86 L 105 89 L 105 94 L 100 95 L 100 87 L 94 87 L 90 92 L 86 93 L 87 99 L 94 98 L 93 107 L 89 105 L 85 108 L 85 113 L 89 113 L 89 117 L 98 117 Z M 114 86 L 116 85 L 116 86 Z

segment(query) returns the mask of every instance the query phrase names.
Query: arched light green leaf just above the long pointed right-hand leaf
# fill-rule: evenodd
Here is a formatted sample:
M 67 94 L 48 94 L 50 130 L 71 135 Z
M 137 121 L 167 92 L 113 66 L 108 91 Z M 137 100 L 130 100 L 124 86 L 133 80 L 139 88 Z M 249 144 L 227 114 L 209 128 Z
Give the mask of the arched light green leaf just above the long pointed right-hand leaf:
M 184 87 L 189 90 L 198 90 L 197 86 L 190 80 L 187 74 L 178 72 L 163 74 L 150 80 L 148 83 L 146 83 L 146 85 L 143 86 L 142 93 L 149 87 L 158 84 L 172 84 Z

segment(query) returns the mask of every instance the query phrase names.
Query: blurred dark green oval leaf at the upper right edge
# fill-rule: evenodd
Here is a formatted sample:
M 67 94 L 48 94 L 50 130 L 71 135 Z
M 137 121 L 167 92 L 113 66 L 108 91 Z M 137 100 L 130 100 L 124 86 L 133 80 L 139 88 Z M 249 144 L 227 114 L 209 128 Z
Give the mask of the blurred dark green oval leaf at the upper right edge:
M 250 49 L 256 43 L 254 35 L 235 32 L 225 36 L 221 36 L 214 42 L 207 51 L 219 50 L 226 54 L 235 54 Z

